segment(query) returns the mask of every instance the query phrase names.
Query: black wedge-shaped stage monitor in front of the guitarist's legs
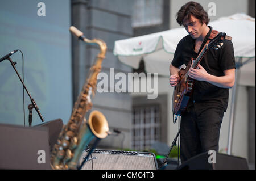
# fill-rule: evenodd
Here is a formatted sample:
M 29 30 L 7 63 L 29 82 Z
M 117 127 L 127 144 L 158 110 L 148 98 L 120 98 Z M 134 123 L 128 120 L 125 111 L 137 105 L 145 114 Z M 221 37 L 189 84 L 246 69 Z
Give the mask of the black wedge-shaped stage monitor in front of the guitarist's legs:
M 245 158 L 234 157 L 232 155 L 216 153 L 215 163 L 209 163 L 210 155 L 208 152 L 201 153 L 188 159 L 178 170 L 248 170 L 248 164 Z

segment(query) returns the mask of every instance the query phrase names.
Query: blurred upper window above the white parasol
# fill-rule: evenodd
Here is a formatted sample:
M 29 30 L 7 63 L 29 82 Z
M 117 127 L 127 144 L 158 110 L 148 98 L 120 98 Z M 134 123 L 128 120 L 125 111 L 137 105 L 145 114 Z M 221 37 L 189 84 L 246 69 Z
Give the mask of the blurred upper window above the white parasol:
M 163 0 L 135 0 L 133 27 L 154 26 L 163 23 Z

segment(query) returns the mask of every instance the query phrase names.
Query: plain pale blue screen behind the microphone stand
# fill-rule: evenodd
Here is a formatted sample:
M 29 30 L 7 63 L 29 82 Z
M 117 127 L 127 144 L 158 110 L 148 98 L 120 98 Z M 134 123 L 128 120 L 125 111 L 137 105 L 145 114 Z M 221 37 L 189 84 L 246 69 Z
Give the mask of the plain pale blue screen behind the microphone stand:
M 22 50 L 24 83 L 44 120 L 67 123 L 73 106 L 70 1 L 1 1 L 0 25 L 0 57 Z M 11 59 L 22 76 L 22 54 L 16 52 Z M 24 97 L 28 126 L 31 102 L 26 91 Z M 24 125 L 23 86 L 9 60 L 0 62 L 0 123 Z M 32 125 L 41 123 L 33 110 Z

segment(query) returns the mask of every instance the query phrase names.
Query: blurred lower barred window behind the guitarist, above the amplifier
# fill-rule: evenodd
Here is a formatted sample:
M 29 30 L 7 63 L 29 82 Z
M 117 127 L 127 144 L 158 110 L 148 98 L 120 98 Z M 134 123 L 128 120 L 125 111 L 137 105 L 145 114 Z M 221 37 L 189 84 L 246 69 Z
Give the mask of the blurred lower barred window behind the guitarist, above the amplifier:
M 150 145 L 160 141 L 159 106 L 133 108 L 131 145 L 134 150 L 149 150 Z

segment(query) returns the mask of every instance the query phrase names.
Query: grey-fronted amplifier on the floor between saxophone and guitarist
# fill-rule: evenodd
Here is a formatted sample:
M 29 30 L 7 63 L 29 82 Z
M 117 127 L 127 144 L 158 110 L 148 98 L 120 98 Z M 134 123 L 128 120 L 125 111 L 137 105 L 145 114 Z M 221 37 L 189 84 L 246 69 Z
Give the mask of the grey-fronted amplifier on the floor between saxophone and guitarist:
M 79 164 L 89 150 L 85 149 Z M 94 149 L 81 170 L 156 170 L 158 165 L 154 153 Z

